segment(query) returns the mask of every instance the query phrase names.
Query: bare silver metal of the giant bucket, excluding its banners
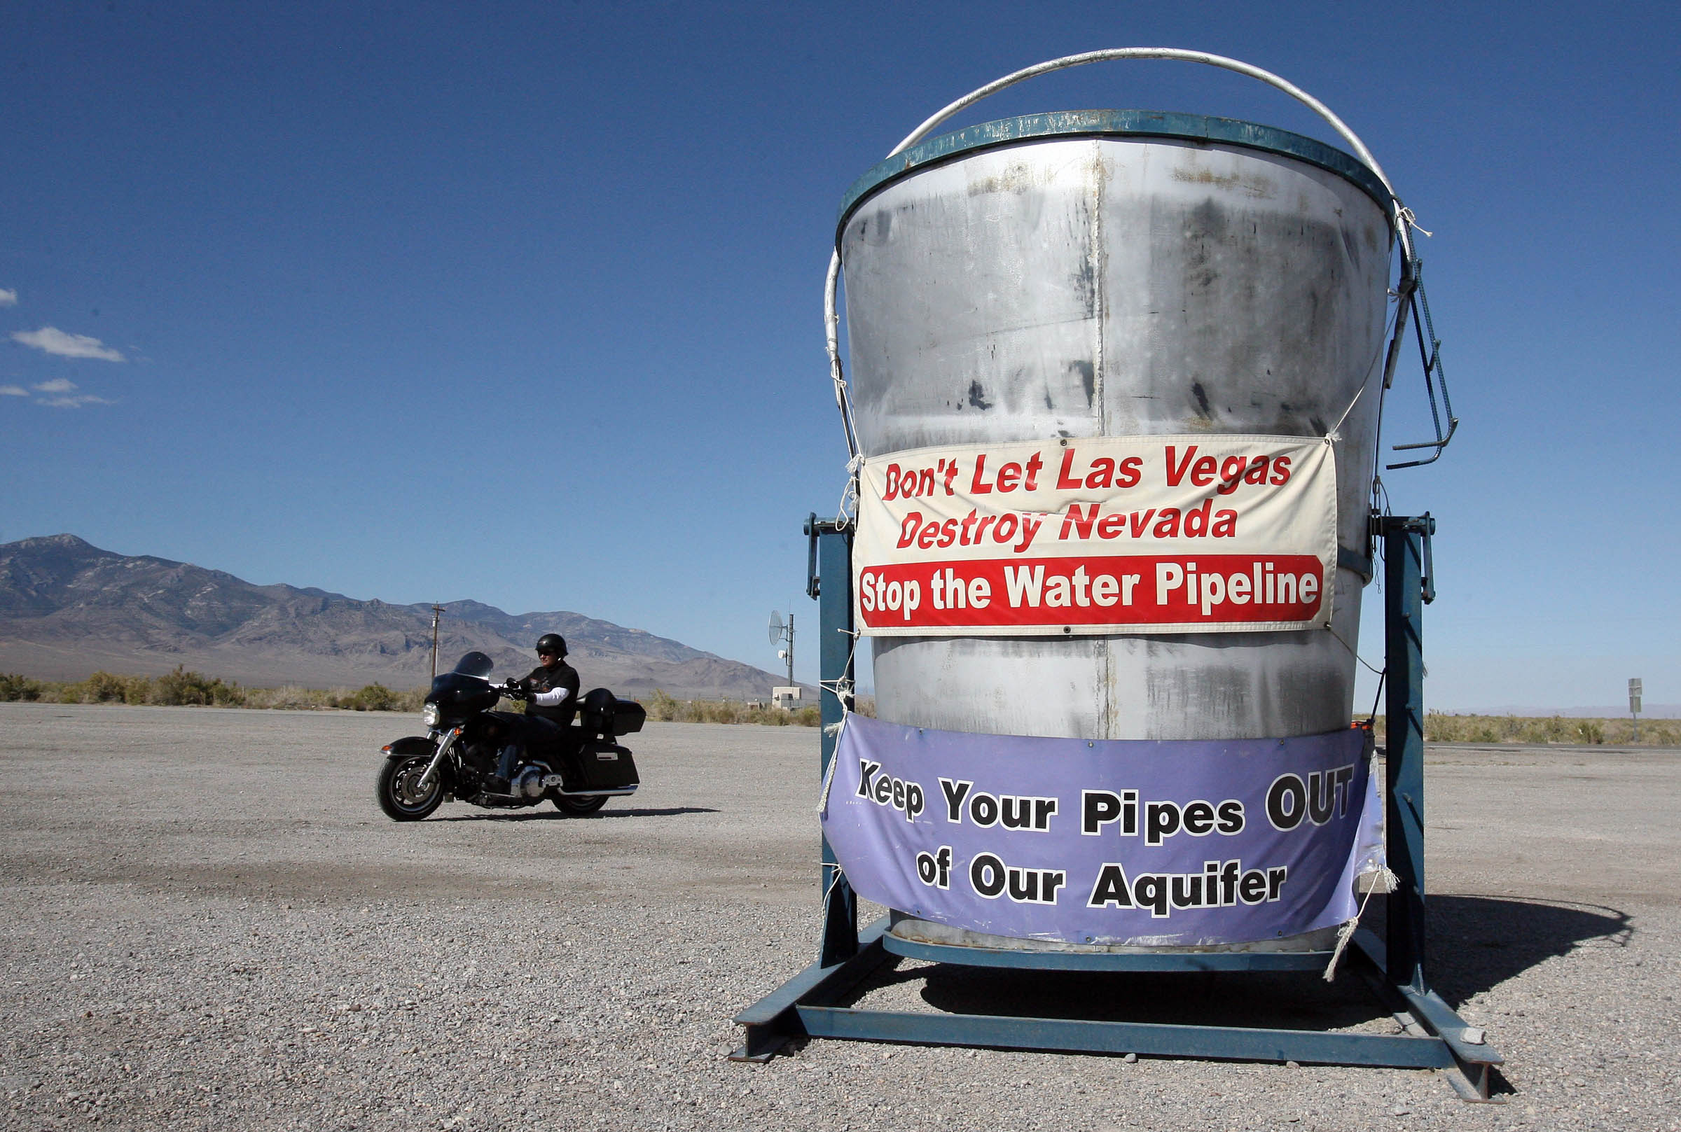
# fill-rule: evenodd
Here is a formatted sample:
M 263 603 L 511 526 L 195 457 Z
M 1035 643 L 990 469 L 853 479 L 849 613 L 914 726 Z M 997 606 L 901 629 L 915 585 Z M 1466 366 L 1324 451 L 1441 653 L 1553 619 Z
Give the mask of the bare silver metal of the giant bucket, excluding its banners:
M 1336 453 L 1328 630 L 877 638 L 883 719 L 1081 739 L 1348 724 L 1387 197 L 1365 166 L 1309 138 L 1133 111 L 987 123 L 852 188 L 839 244 L 866 455 L 1333 430 Z

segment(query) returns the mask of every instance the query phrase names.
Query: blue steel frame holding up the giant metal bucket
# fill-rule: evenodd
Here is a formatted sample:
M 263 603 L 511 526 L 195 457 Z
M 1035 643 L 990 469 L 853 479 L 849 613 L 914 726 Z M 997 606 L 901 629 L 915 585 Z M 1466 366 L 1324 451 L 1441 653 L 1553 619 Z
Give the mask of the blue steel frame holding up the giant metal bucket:
M 1308 971 L 1330 952 L 1298 954 L 1091 954 L 1035 952 L 918 944 L 888 932 L 891 917 L 857 929 L 857 897 L 827 838 L 822 846 L 824 925 L 817 961 L 772 994 L 736 1014 L 745 1041 L 731 1060 L 768 1061 L 795 1038 L 851 1038 L 918 1045 L 1136 1053 L 1246 1061 L 1313 1061 L 1446 1070 L 1466 1100 L 1489 1100 L 1499 1053 L 1483 1031 L 1466 1026 L 1424 974 L 1424 605 L 1436 598 L 1431 573 L 1431 516 L 1382 516 L 1372 532 L 1383 544 L 1385 660 L 1389 736 L 1385 747 L 1387 848 L 1399 887 L 1389 894 L 1387 941 L 1355 932 L 1350 967 L 1390 1009 L 1405 1033 L 1325 1033 L 1252 1026 L 1187 1026 L 1002 1014 L 903 1013 L 840 1006 L 859 984 L 899 959 L 1035 971 Z M 819 600 L 822 757 L 827 776 L 835 752 L 830 724 L 851 707 L 842 690 L 852 680 L 852 532 L 814 514 L 807 593 Z

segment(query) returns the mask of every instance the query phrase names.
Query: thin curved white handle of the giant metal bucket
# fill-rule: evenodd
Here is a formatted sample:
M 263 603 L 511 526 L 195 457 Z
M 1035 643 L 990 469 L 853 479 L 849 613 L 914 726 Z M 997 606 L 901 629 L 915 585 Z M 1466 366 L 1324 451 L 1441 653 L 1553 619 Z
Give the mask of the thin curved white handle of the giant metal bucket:
M 1183 50 L 1180 47 L 1106 47 L 1103 50 L 1088 50 L 1079 55 L 1062 55 L 1061 59 L 1049 59 L 1032 67 L 1022 67 L 1002 79 L 993 79 L 983 87 L 970 91 L 950 106 L 941 107 L 933 118 L 925 121 L 921 126 L 911 131 L 911 134 L 896 144 L 888 155 L 896 156 L 904 149 L 909 149 L 918 141 L 926 138 L 940 123 L 951 118 L 953 114 L 968 109 L 975 102 L 997 94 L 999 91 L 1034 79 L 1052 71 L 1064 71 L 1066 67 L 1083 67 L 1088 62 L 1108 62 L 1111 59 L 1173 59 L 1178 62 L 1200 62 L 1209 67 L 1220 67 L 1224 71 L 1236 71 L 1237 74 L 1249 76 L 1251 79 L 1259 79 L 1271 87 L 1278 87 L 1284 94 L 1291 96 L 1315 114 L 1323 118 L 1331 129 L 1336 131 L 1343 141 L 1353 148 L 1355 156 L 1358 156 L 1368 170 L 1377 175 L 1377 180 L 1383 183 L 1389 190 L 1390 208 L 1394 210 L 1395 235 L 1400 240 L 1402 264 L 1412 262 L 1412 212 L 1402 207 L 1400 198 L 1395 197 L 1395 186 L 1389 183 L 1389 176 L 1383 173 L 1383 166 L 1377 163 L 1367 144 L 1360 141 L 1358 134 L 1343 123 L 1331 107 L 1313 97 L 1294 82 L 1283 79 L 1271 71 L 1262 71 L 1254 64 L 1247 64 L 1241 59 L 1229 59 L 1225 55 L 1210 55 L 1205 50 Z M 846 425 L 847 448 L 852 457 L 857 457 L 857 433 L 852 423 L 852 406 L 847 398 L 846 378 L 840 371 L 840 311 L 837 302 L 837 291 L 840 284 L 840 249 L 835 247 L 834 254 L 829 257 L 829 279 L 824 284 L 824 331 L 829 346 L 829 376 L 835 385 L 835 401 L 840 405 L 840 420 Z M 1399 329 L 1399 326 L 1397 326 Z

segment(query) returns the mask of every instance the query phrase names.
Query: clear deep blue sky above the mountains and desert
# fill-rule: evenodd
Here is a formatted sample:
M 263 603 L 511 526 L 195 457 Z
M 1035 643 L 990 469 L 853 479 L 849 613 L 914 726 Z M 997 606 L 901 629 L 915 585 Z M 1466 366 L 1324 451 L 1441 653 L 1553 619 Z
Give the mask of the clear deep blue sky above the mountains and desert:
M 842 484 L 842 191 L 1009 71 L 1173 45 L 1326 101 L 1436 233 L 1464 425 L 1387 477 L 1441 519 L 1431 702 L 1617 704 L 1631 675 L 1681 702 L 1678 30 L 1656 3 L 18 0 L 0 539 L 568 608 L 773 668 L 767 613 L 815 625 L 800 521 Z M 1330 138 L 1168 62 L 953 126 L 1079 107 Z M 1415 363 L 1397 390 L 1390 440 L 1420 438 Z

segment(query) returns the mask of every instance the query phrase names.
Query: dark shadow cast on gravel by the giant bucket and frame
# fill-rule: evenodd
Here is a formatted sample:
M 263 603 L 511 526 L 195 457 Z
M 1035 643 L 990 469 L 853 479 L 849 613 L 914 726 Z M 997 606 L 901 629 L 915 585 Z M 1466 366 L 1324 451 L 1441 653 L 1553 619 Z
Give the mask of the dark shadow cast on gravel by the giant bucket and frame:
M 1367 915 L 1363 924 L 1382 939 L 1382 914 Z M 1632 934 L 1629 915 L 1617 909 L 1462 895 L 1431 897 L 1429 930 L 1429 979 L 1452 1004 L 1577 947 L 1624 947 Z M 1346 966 L 1335 983 L 1326 983 L 1318 972 L 1079 974 L 935 964 L 877 974 L 859 998 L 918 983 L 921 999 L 946 1013 L 1288 1030 L 1375 1023 L 1383 1033 L 1394 1028 Z

